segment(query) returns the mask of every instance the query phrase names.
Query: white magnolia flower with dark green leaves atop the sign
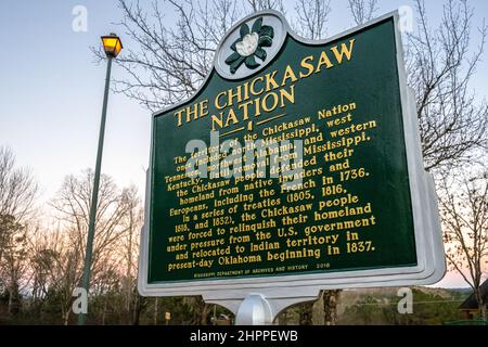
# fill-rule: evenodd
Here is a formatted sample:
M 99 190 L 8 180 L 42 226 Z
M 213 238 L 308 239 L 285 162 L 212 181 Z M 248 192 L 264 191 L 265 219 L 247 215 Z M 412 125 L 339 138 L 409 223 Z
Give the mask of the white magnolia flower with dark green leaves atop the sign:
M 235 74 L 244 63 L 247 68 L 254 69 L 260 64 L 256 62 L 256 56 L 262 62 L 266 61 L 267 53 L 264 47 L 271 47 L 274 30 L 269 25 L 262 25 L 262 17 L 257 18 L 253 28 L 244 23 L 240 29 L 241 38 L 231 44 L 233 53 L 226 59 L 226 64 L 230 66 L 231 74 Z

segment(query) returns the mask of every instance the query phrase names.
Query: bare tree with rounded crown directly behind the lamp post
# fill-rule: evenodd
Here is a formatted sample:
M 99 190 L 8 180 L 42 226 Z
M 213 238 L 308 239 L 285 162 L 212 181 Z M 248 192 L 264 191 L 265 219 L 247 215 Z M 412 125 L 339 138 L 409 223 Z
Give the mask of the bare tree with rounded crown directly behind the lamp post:
M 68 323 L 73 290 L 78 286 L 82 273 L 93 172 L 87 170 L 80 177 L 65 178 L 57 196 L 52 203 L 56 218 L 68 243 L 68 252 L 56 253 L 63 256 L 64 266 L 69 267 L 69 275 L 61 281 L 63 290 L 63 313 L 65 324 Z M 129 210 L 129 204 L 113 180 L 102 175 L 99 191 L 99 202 L 95 217 L 95 237 L 92 258 L 92 283 L 103 283 L 106 272 L 115 271 L 117 261 L 117 245 L 125 229 L 121 220 Z M 97 286 L 94 286 L 97 290 Z

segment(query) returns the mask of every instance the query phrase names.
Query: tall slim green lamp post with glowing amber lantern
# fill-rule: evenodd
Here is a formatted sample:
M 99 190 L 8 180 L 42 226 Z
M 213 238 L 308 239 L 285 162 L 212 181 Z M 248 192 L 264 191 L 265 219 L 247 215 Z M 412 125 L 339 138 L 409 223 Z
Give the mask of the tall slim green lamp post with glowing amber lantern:
M 88 236 L 87 236 L 87 249 L 85 253 L 85 266 L 84 274 L 81 278 L 81 287 L 88 293 L 90 288 L 90 270 L 91 270 L 91 258 L 93 253 L 93 239 L 97 219 L 97 205 L 99 201 L 99 185 L 100 185 L 100 169 L 102 166 L 102 152 L 103 152 L 103 139 L 105 136 L 105 119 L 106 119 L 106 105 L 108 101 L 108 88 L 111 83 L 111 69 L 112 60 L 118 55 L 123 49 L 120 38 L 117 35 L 111 34 L 110 36 L 102 36 L 103 49 L 105 51 L 107 63 L 106 63 L 106 77 L 105 77 L 105 91 L 103 94 L 103 107 L 102 107 L 102 120 L 100 124 L 100 134 L 99 134 L 99 150 L 97 152 L 97 164 L 93 178 L 93 190 L 91 195 L 90 205 L 90 219 L 88 223 Z M 85 325 L 86 313 L 78 314 L 78 325 Z

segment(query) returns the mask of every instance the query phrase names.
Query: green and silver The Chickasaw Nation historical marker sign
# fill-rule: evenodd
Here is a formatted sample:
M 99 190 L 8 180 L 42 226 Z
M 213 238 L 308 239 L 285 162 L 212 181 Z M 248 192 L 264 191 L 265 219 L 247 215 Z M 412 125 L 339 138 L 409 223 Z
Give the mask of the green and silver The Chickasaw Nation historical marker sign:
M 141 294 L 286 297 L 444 275 L 397 22 L 307 41 L 262 12 L 229 31 L 202 89 L 154 114 Z

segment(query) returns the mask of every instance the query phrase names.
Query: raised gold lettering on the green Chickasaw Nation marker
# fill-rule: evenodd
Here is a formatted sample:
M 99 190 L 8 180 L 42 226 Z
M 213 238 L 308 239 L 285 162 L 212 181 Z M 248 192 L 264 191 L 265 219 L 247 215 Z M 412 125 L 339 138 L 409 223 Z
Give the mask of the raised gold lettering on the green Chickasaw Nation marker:
M 287 164 L 267 172 L 278 179 L 222 175 L 206 180 L 185 176 L 189 159 L 205 163 L 208 171 L 220 175 L 222 167 L 213 159 L 229 153 L 210 146 L 174 157 L 174 172 L 162 183 L 177 204 L 156 216 L 171 221 L 172 230 L 165 231 L 164 250 L 169 257 L 165 271 L 195 279 L 326 271 L 341 269 L 338 262 L 356 260 L 357 254 L 377 252 L 380 243 L 372 235 L 382 223 L 378 206 L 358 191 L 358 183 L 371 184 L 371 168 L 361 155 L 374 144 L 381 121 L 355 98 L 321 99 L 317 102 L 322 105 L 307 104 L 307 114 L 292 115 L 286 110 L 308 103 L 299 93 L 305 79 L 311 81 L 354 60 L 355 44 L 356 39 L 337 42 L 299 56 L 295 65 L 222 88 L 208 100 L 174 112 L 180 129 L 206 117 L 210 130 L 235 134 L 235 129 L 248 129 L 246 136 L 265 142 L 300 139 L 304 159 L 295 160 L 294 144 L 283 143 L 256 151 L 256 162 L 246 163 L 256 168 L 287 156 Z M 241 151 L 245 154 L 247 149 Z M 296 174 L 299 177 L 284 175 L 297 167 L 303 168 Z M 299 183 L 294 178 L 300 178 Z M 283 189 L 284 182 L 294 183 L 293 189 Z

